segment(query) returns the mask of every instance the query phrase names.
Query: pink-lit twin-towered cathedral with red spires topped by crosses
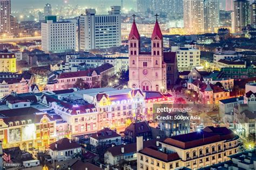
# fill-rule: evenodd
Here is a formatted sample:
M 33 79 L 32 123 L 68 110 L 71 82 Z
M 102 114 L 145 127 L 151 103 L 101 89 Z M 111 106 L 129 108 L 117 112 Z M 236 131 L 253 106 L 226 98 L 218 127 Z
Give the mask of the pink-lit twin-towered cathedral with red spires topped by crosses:
M 176 66 L 170 65 L 173 63 Z M 167 72 L 178 72 L 175 67 L 176 53 L 164 52 L 163 35 L 157 19 L 151 36 L 151 52 L 140 51 L 140 35 L 133 19 L 129 34 L 129 88 L 164 92 L 167 84 L 174 84 L 177 79 L 177 75 L 167 78 Z

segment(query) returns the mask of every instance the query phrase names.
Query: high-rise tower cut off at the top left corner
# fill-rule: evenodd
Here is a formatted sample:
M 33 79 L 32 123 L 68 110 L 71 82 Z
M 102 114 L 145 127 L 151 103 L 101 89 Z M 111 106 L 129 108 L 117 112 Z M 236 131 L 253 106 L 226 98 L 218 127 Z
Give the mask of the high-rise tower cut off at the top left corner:
M 0 0 L 0 32 L 11 30 L 11 0 Z

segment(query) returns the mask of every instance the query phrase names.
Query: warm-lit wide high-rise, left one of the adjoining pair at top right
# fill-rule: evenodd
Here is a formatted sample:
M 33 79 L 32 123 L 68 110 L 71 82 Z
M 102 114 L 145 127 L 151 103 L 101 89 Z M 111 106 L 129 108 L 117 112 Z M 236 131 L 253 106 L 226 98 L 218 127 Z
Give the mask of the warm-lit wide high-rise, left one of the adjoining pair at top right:
M 184 0 L 183 11 L 186 32 L 204 33 L 204 0 Z

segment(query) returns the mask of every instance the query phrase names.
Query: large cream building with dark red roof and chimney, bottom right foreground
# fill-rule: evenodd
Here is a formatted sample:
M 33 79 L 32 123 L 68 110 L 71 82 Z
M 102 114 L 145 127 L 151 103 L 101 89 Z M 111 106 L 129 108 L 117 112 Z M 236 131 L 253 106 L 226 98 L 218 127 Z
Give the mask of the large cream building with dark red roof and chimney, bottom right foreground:
M 228 155 L 238 152 L 238 135 L 226 127 L 206 127 L 200 132 L 177 135 L 165 139 L 161 150 L 143 147 L 137 138 L 137 169 L 199 169 L 230 160 Z

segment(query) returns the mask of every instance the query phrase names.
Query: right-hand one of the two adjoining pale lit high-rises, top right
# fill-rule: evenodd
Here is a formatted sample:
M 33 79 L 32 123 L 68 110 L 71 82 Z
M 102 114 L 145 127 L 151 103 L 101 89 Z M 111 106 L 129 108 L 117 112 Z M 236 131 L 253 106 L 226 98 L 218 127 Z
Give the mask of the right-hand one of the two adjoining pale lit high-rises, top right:
M 204 29 L 205 32 L 214 32 L 219 26 L 220 19 L 219 0 L 205 0 L 204 2 Z

